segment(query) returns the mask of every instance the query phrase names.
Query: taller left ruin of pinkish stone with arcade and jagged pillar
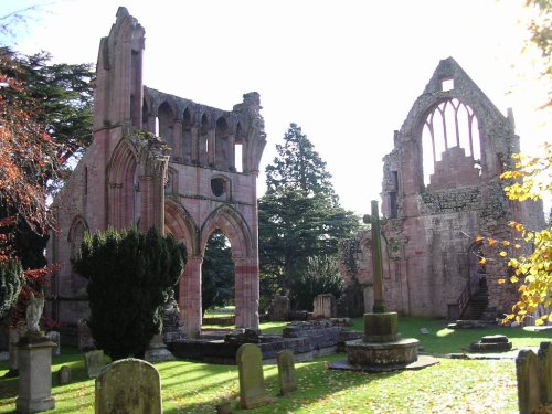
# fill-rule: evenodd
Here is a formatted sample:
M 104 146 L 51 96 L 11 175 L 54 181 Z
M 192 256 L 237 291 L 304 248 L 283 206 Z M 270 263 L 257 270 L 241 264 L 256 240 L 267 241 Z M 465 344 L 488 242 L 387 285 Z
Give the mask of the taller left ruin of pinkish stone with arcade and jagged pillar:
M 266 145 L 259 96 L 245 94 L 223 110 L 148 88 L 144 47 L 144 29 L 119 8 L 99 46 L 93 142 L 52 204 L 57 231 L 47 255 L 61 267 L 46 315 L 73 328 L 88 316 L 86 280 L 72 270 L 86 231 L 155 225 L 187 246 L 178 296 L 187 333 L 197 336 L 204 246 L 219 229 L 232 245 L 236 325 L 256 328 L 256 179 Z

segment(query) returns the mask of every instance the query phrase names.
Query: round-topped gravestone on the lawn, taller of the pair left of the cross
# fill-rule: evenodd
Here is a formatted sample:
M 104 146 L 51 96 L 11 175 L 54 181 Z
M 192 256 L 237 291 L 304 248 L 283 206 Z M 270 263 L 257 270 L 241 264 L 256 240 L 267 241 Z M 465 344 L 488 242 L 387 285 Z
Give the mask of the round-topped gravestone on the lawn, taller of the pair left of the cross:
M 266 394 L 263 376 L 263 354 L 254 343 L 244 343 L 236 354 L 240 374 L 240 406 L 245 410 L 266 405 L 270 399 Z

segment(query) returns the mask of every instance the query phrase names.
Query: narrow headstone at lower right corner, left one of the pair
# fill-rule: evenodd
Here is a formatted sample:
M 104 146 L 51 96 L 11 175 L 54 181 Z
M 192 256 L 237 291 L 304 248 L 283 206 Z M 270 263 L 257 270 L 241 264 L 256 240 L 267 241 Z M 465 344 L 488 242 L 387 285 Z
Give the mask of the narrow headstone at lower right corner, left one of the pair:
M 516 358 L 516 376 L 518 379 L 518 404 L 520 414 L 529 414 L 539 407 L 539 361 L 533 351 L 521 350 Z

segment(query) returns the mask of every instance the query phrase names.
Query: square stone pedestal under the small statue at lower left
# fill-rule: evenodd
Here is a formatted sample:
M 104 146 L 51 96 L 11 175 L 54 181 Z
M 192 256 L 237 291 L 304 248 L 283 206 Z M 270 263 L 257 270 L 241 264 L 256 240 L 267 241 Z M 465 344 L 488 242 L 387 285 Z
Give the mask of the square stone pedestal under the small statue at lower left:
M 22 337 L 18 343 L 19 396 L 18 413 L 52 410 L 52 348 L 54 342 L 41 335 Z

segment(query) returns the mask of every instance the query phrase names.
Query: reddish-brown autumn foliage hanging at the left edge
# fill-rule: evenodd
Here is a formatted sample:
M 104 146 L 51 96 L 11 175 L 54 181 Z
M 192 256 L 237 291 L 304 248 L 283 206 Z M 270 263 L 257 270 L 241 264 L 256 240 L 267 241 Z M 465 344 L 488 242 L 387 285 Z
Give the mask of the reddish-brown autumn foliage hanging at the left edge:
M 24 222 L 33 233 L 45 234 L 52 223 L 46 210 L 46 181 L 59 170 L 56 145 L 46 126 L 36 121 L 41 106 L 20 79 L 13 54 L 0 50 L 0 265 L 21 269 L 15 237 Z M 17 264 L 14 264 L 17 262 Z M 43 291 L 50 269 L 23 266 L 24 284 L 12 320 L 23 317 L 25 296 Z M 15 286 L 20 272 L 3 272 L 0 283 Z M 18 289 L 19 290 L 19 289 Z M 2 299 L 3 301 L 3 299 Z M 7 305 L 7 304 L 0 304 Z

